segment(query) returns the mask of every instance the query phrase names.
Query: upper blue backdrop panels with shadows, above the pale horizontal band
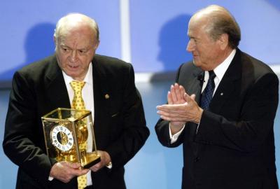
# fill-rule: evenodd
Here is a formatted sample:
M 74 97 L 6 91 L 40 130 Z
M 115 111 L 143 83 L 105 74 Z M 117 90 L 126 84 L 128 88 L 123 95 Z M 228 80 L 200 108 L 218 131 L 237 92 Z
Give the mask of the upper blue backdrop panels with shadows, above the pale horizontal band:
M 239 22 L 241 50 L 267 64 L 279 64 L 279 0 L 142 0 L 130 2 L 130 23 L 126 23 L 130 25 L 135 71 L 174 71 L 191 59 L 186 52 L 188 20 L 195 11 L 213 3 L 228 8 Z M 0 11 L 0 85 L 10 80 L 15 69 L 54 52 L 55 23 L 70 12 L 97 20 L 101 32 L 98 53 L 122 58 L 119 1 L 3 0 Z

